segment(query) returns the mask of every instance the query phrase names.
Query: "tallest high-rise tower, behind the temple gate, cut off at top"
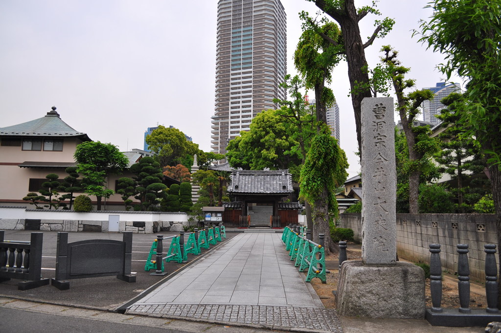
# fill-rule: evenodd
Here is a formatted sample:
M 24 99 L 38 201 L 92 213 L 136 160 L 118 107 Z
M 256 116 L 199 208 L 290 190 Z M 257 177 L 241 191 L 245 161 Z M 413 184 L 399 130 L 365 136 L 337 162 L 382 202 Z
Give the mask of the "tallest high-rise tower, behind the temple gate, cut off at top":
M 248 130 L 259 112 L 285 99 L 286 14 L 280 0 L 219 0 L 216 93 L 211 148 L 225 153 L 229 140 Z

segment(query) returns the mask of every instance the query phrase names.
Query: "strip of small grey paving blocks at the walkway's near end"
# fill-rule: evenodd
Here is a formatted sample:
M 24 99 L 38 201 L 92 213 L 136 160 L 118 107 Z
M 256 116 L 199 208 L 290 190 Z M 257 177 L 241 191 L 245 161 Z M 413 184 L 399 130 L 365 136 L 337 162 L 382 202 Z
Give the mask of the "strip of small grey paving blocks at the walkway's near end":
M 141 304 L 126 313 L 152 314 L 217 323 L 259 325 L 289 331 L 342 333 L 336 310 L 318 307 L 217 304 Z

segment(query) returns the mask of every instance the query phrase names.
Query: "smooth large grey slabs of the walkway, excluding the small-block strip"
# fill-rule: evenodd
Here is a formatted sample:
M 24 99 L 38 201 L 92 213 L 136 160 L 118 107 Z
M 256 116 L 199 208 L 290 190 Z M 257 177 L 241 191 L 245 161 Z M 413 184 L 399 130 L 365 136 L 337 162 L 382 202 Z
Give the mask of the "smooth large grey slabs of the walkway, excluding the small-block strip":
M 280 234 L 242 233 L 134 304 L 324 307 L 304 280 Z

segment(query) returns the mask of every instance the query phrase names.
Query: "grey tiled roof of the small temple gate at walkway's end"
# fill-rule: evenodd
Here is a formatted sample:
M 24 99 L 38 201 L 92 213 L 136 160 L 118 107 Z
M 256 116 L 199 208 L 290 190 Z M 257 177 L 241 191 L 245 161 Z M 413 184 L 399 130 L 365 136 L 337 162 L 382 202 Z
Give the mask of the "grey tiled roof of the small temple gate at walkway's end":
M 235 170 L 231 173 L 231 194 L 275 194 L 287 196 L 293 193 L 289 170 Z

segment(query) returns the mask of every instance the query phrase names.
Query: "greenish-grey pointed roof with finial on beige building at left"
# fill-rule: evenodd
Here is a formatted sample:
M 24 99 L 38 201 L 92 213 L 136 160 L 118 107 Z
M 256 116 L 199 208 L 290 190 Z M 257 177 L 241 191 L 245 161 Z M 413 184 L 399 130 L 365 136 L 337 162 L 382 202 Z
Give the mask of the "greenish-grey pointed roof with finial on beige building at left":
M 0 128 L 1 136 L 55 136 L 55 137 L 68 137 L 77 136 L 81 137 L 84 141 L 90 141 L 87 134 L 78 132 L 59 117 L 56 108 L 53 107 L 52 111 L 35 120 L 30 120 L 21 124 L 12 125 Z

